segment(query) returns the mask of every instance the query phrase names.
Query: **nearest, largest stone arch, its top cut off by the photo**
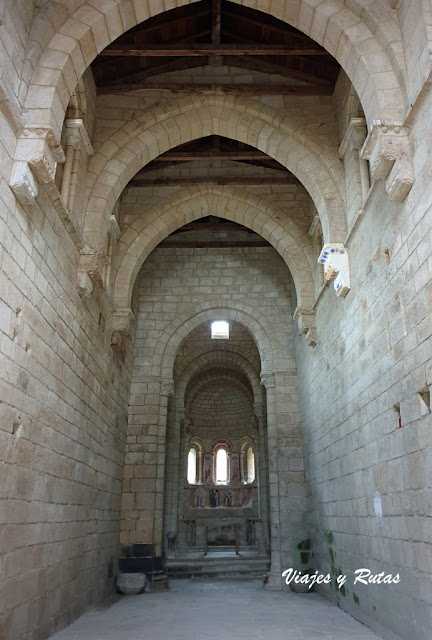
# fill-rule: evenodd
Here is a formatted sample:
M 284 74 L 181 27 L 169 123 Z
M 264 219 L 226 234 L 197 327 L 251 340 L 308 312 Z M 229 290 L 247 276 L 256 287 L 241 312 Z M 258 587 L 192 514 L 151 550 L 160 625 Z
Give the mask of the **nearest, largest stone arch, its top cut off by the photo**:
M 175 4 L 180 7 L 193 1 L 176 0 Z M 232 1 L 258 8 L 250 0 Z M 374 120 L 403 121 L 406 99 L 399 78 L 404 78 L 405 69 L 395 55 L 401 36 L 388 8 L 380 5 L 375 12 L 374 3 L 366 0 L 353 0 L 350 8 L 343 0 L 261 4 L 260 10 L 299 29 L 339 62 L 360 96 L 369 125 Z M 44 124 L 59 136 L 70 94 L 97 54 L 132 27 L 169 8 L 168 0 L 99 0 L 92 5 L 76 0 L 70 13 L 66 6 L 63 15 L 56 12 L 54 31 L 51 3 L 41 7 L 27 54 L 31 60 L 30 53 L 42 36 L 44 49 L 24 103 L 27 126 Z

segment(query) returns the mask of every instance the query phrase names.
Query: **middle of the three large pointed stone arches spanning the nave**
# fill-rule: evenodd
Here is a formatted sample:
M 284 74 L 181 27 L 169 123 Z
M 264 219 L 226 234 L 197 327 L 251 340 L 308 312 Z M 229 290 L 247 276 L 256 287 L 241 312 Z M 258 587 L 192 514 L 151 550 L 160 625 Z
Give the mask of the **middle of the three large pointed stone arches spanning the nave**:
M 84 226 L 89 246 L 104 246 L 115 203 L 143 166 L 173 147 L 213 134 L 249 144 L 285 166 L 314 201 L 326 241 L 345 238 L 343 165 L 320 142 L 317 128 L 286 112 L 243 97 L 184 97 L 126 123 L 118 134 L 101 145 L 89 165 L 93 184 Z

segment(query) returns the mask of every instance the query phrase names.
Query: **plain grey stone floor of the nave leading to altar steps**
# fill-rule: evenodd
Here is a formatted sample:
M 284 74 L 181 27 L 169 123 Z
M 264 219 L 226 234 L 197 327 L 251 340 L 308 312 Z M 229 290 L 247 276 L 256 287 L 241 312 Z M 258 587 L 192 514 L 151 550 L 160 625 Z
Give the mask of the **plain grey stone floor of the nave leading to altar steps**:
M 262 579 L 171 579 L 165 593 L 122 597 L 51 640 L 378 640 L 315 593 L 265 591 Z

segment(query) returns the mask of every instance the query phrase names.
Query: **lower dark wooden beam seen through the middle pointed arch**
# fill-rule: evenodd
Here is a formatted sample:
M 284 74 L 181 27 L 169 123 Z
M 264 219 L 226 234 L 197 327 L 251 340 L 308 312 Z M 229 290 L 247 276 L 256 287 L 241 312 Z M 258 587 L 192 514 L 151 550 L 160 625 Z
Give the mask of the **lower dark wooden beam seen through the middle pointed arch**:
M 177 187 L 184 185 L 208 184 L 208 185 L 252 185 L 252 186 L 282 186 L 288 184 L 299 184 L 295 176 L 287 175 L 284 177 L 267 177 L 267 176 L 222 176 L 222 177 L 198 177 L 198 178 L 153 178 L 143 179 L 134 178 L 129 187 Z

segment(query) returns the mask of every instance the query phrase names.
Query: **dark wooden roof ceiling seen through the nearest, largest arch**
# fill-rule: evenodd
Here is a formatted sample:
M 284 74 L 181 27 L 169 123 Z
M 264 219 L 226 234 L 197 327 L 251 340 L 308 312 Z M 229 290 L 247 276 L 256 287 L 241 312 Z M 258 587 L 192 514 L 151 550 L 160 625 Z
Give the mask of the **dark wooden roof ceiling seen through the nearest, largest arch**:
M 164 83 L 160 77 L 209 64 L 278 74 L 281 83 L 215 86 Z M 325 49 L 300 31 L 227 0 L 201 0 L 146 20 L 117 38 L 92 64 L 99 93 L 165 89 L 331 95 L 339 69 Z

